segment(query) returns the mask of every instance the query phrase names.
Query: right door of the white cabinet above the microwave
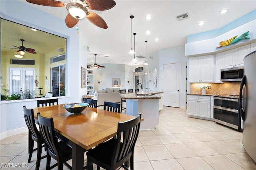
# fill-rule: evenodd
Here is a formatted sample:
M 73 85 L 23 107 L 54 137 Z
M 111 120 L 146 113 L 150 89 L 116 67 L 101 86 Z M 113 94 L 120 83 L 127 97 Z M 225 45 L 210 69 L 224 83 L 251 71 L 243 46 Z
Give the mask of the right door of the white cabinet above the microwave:
M 234 63 L 235 66 L 243 66 L 244 65 L 244 57 L 250 53 L 250 44 L 244 45 L 242 47 L 236 48 L 236 61 Z

